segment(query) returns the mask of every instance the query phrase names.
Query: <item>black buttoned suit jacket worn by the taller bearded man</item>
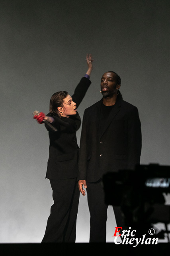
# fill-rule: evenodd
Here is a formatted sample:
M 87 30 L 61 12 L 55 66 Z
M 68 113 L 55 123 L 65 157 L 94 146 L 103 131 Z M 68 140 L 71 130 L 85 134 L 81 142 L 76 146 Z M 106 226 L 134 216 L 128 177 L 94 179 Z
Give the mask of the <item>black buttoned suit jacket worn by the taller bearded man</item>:
M 96 182 L 106 172 L 133 169 L 140 162 L 141 122 L 135 106 L 118 100 L 100 129 L 102 100 L 84 112 L 78 180 Z

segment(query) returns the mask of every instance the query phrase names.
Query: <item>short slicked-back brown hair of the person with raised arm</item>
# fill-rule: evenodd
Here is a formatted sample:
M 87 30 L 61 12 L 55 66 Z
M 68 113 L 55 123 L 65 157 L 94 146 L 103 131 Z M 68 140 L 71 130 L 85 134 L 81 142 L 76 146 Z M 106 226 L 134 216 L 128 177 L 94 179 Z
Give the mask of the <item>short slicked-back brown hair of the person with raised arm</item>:
M 51 96 L 49 111 L 53 116 L 55 116 L 56 114 L 60 116 L 57 108 L 63 107 L 63 100 L 64 98 L 66 98 L 67 95 L 68 95 L 68 92 L 60 91 L 60 92 L 55 92 Z

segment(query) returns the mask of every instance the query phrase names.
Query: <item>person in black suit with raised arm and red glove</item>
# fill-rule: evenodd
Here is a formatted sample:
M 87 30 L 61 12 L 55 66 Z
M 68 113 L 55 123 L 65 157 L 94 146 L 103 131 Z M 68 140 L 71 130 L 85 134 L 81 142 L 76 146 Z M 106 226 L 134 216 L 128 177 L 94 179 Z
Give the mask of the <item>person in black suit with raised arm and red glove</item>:
M 76 240 L 76 218 L 80 195 L 76 182 L 79 151 L 76 131 L 81 124 L 77 108 L 91 84 L 89 78 L 92 61 L 92 55 L 87 54 L 88 70 L 72 96 L 66 91 L 54 93 L 50 100 L 49 114 L 45 116 L 40 113 L 34 116 L 39 123 L 46 120 L 57 129 L 54 132 L 45 124 L 50 140 L 46 178 L 50 180 L 54 204 L 51 206 L 42 243 Z

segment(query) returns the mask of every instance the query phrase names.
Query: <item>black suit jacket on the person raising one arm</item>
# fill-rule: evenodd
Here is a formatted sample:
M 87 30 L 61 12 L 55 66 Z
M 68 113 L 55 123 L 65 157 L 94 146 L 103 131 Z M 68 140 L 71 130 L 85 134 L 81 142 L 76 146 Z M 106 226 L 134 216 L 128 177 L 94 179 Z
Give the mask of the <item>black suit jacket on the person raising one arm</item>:
M 91 82 L 88 78 L 83 77 L 76 87 L 72 100 L 78 108 L 84 98 Z M 49 113 L 47 116 L 51 116 Z M 57 132 L 49 130 L 49 160 L 47 164 L 46 178 L 52 180 L 62 180 L 77 177 L 78 170 L 78 151 L 76 131 L 80 128 L 81 120 L 77 112 L 76 115 L 66 117 L 52 116 L 52 123 Z

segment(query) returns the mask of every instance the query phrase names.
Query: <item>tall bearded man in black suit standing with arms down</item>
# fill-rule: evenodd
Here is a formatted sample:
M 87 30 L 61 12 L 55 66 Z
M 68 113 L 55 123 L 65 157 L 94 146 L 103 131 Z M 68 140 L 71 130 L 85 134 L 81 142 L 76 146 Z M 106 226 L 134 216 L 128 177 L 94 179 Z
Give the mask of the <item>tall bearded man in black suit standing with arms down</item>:
M 84 112 L 78 187 L 83 196 L 87 188 L 90 242 L 106 242 L 108 205 L 104 202 L 102 176 L 107 172 L 134 169 L 140 162 L 138 110 L 123 100 L 120 86 L 120 77 L 115 72 L 106 72 L 101 79 L 103 98 Z M 113 209 L 117 226 L 122 226 L 120 209 Z

